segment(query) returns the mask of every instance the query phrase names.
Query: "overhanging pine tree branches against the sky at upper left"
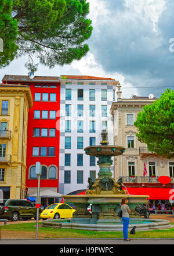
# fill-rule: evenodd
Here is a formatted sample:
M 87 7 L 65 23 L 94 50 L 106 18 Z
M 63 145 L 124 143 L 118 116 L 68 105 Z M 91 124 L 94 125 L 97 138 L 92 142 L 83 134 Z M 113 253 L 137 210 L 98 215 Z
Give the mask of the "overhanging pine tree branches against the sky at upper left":
M 86 0 L 0 0 L 0 3 L 3 8 L 9 3 L 8 19 L 15 27 L 13 58 L 28 55 L 28 69 L 37 69 L 33 57 L 54 67 L 79 60 L 89 51 L 84 41 L 92 34 L 92 22 L 86 19 L 89 13 Z M 0 26 L 8 29 L 6 23 Z M 12 36 L 11 32 L 9 35 Z M 1 59 L 0 66 L 6 65 L 9 62 Z

